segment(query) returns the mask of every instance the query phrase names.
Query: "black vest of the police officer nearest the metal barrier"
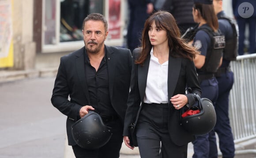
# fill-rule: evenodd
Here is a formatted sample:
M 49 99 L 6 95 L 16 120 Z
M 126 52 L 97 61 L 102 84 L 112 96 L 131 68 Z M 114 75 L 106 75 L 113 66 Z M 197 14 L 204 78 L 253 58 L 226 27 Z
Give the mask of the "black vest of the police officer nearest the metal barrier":
M 232 26 L 233 36 L 226 39 L 226 47 L 223 50 L 223 59 L 234 61 L 237 59 L 238 49 L 238 25 L 235 19 L 221 16 L 219 19 L 226 19 Z

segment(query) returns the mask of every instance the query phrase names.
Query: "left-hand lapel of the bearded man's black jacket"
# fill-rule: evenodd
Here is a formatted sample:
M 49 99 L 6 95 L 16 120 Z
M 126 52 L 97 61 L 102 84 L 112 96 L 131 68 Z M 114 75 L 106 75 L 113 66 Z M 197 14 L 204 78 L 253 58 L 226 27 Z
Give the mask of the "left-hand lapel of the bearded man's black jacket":
M 84 47 L 79 50 L 79 52 L 76 54 L 75 58 L 75 67 L 76 67 L 76 72 L 79 78 L 79 82 L 82 86 L 83 92 L 85 94 L 85 97 L 87 101 L 89 102 L 90 105 L 90 97 L 89 97 L 89 92 L 88 92 L 88 87 L 86 83 L 86 78 L 85 78 L 85 65 L 84 65 Z

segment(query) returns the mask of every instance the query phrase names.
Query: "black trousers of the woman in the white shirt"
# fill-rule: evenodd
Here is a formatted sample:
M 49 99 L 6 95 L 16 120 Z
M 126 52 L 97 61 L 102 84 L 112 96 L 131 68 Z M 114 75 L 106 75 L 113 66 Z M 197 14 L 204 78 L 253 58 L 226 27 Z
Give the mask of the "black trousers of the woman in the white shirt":
M 169 136 L 168 116 L 168 104 L 143 104 L 136 125 L 141 158 L 187 158 L 188 144 L 177 146 Z

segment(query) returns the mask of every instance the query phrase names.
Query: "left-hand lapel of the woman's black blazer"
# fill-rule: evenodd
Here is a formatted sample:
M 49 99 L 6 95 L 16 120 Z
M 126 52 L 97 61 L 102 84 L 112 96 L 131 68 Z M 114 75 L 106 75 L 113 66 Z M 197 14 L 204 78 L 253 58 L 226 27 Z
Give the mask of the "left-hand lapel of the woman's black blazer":
M 139 85 L 139 94 L 142 101 L 144 100 L 145 90 L 147 86 L 147 73 L 149 68 L 150 57 L 151 55 L 148 54 L 147 59 L 145 60 L 143 66 L 138 65 L 138 85 Z

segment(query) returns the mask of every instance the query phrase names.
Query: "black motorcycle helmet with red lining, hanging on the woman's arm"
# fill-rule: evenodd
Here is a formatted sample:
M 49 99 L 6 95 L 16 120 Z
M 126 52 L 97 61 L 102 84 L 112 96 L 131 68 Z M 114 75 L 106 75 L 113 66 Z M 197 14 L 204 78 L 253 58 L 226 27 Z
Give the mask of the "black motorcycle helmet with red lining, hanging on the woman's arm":
M 193 135 L 209 133 L 216 124 L 214 106 L 209 99 L 201 98 L 196 107 L 200 110 L 200 113 L 189 115 L 184 118 L 181 117 L 181 126 Z

